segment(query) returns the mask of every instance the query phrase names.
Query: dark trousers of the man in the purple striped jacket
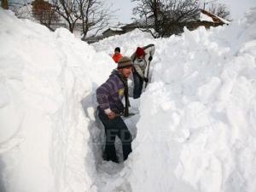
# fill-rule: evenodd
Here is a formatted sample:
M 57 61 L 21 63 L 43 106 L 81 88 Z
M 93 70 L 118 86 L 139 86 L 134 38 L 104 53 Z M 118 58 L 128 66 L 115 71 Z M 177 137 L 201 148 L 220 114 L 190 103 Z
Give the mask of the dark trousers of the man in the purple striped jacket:
M 119 137 L 122 142 L 123 156 L 124 160 L 128 158 L 131 153 L 131 133 L 125 125 L 124 120 L 121 117 L 116 117 L 114 119 L 108 119 L 108 116 L 100 111 L 99 118 L 102 120 L 102 124 L 105 127 L 106 134 L 106 145 L 105 154 L 106 160 L 112 160 L 113 162 L 118 162 L 116 151 L 114 147 L 115 137 Z

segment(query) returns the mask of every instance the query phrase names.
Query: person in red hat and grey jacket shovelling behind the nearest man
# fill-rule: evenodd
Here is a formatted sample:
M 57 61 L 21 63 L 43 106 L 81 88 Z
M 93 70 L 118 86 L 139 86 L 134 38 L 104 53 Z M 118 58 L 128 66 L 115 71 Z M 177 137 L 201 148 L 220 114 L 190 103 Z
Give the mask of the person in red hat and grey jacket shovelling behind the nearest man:
M 133 72 L 133 98 L 137 99 L 141 96 L 143 90 L 143 82 L 148 83 L 148 77 L 145 76 L 145 69 L 148 61 L 152 61 L 154 55 L 154 44 L 148 44 L 144 47 L 137 47 L 136 52 L 131 55 L 131 61 L 134 62 Z

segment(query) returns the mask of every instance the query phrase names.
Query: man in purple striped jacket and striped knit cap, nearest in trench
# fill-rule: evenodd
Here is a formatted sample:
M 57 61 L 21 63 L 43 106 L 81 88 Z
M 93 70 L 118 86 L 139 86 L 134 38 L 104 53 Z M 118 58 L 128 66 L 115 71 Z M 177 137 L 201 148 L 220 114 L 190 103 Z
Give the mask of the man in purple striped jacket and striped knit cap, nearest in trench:
M 124 160 L 131 153 L 131 133 L 125 125 L 121 115 L 128 116 L 129 100 L 127 79 L 131 75 L 133 62 L 130 57 L 124 56 L 118 61 L 117 69 L 114 69 L 109 79 L 96 90 L 99 103 L 99 118 L 105 127 L 106 160 L 119 162 L 114 148 L 115 137 L 122 142 Z M 125 96 L 125 107 L 122 102 Z

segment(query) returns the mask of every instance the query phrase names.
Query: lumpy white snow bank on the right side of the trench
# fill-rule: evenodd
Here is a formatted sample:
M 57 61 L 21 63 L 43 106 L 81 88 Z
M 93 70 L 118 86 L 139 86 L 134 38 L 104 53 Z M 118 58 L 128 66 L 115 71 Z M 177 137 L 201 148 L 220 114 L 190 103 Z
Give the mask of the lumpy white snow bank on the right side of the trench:
M 256 9 L 157 44 L 127 166 L 135 191 L 256 191 Z

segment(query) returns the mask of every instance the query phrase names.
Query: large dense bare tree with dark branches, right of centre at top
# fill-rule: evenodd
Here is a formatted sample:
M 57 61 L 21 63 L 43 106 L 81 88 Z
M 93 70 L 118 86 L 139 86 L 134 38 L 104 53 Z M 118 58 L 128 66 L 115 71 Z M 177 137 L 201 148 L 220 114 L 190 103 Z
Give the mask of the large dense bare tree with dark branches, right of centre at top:
M 183 31 L 183 23 L 196 20 L 200 9 L 196 0 L 132 0 L 138 2 L 133 18 L 154 38 Z

